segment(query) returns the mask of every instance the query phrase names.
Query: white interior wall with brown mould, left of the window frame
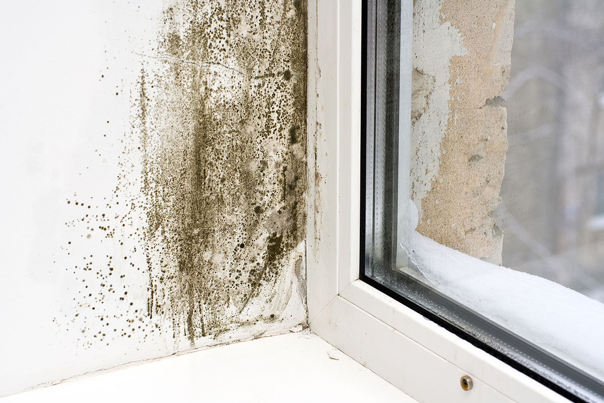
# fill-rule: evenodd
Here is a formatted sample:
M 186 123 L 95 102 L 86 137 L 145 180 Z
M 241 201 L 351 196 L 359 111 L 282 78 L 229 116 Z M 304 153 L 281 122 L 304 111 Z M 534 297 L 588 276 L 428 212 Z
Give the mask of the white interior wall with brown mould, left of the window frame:
M 306 323 L 305 2 L 4 11 L 0 396 Z

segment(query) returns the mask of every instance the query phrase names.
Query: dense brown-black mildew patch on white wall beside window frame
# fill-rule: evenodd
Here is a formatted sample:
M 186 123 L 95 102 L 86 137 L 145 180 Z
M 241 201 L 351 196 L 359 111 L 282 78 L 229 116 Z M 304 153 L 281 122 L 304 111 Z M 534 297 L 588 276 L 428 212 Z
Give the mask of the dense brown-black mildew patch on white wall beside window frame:
M 269 302 L 304 239 L 306 15 L 292 7 L 175 2 L 150 103 L 141 71 L 149 315 L 169 311 L 191 343 Z

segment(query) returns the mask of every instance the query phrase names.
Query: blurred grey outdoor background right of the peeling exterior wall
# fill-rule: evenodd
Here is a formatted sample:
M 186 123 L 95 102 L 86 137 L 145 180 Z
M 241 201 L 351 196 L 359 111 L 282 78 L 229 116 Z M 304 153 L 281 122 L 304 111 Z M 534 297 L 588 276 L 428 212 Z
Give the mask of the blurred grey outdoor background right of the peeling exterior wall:
M 604 302 L 604 8 L 538 3 L 516 5 L 503 264 Z

